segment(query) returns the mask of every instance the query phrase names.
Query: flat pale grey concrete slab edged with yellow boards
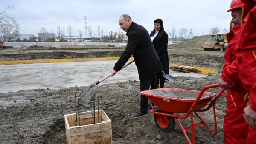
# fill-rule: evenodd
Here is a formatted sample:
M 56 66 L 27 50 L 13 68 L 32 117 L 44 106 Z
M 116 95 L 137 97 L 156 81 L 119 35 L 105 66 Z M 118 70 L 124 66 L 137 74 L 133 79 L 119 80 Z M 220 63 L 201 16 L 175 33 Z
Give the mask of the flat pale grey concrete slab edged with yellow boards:
M 113 69 L 114 61 L 63 62 L 21 65 L 0 65 L 0 93 L 38 88 L 69 88 L 87 86 L 102 79 Z M 172 71 L 172 76 L 205 77 L 198 73 Z M 139 80 L 135 63 L 100 84 Z M 99 85 L 100 85 L 99 84 Z

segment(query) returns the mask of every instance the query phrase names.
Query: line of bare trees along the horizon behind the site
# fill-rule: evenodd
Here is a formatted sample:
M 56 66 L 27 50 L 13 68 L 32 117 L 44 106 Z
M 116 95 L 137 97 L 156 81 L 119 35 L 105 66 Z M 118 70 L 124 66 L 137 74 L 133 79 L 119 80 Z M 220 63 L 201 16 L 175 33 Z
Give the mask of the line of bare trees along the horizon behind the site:
M 7 11 L 12 10 L 13 7 L 7 6 L 3 9 L 3 11 L 0 11 L 0 41 L 3 42 L 10 42 L 11 39 L 13 39 L 15 42 L 35 42 L 36 37 L 33 35 L 29 37 L 28 40 L 23 39 L 20 40 L 20 25 L 17 21 L 15 21 L 12 17 L 10 17 L 7 13 Z M 70 41 L 72 40 L 73 36 L 73 28 L 71 25 L 68 25 L 67 28 L 67 36 L 70 37 Z M 61 27 L 58 25 L 56 27 L 56 39 L 58 39 L 59 42 L 69 42 L 67 41 L 66 36 L 66 30 L 64 27 Z M 218 27 L 215 28 L 210 28 L 209 29 L 209 34 L 218 34 L 220 33 L 221 29 Z M 40 33 L 45 34 L 44 35 L 44 41 L 45 42 L 55 42 L 55 39 L 52 37 L 46 37 L 46 34 L 48 31 L 46 28 L 41 27 L 39 30 Z M 106 35 L 103 31 L 102 28 L 99 26 L 97 27 L 96 34 L 93 33 L 93 30 L 90 26 L 88 26 L 87 29 L 88 32 L 88 38 L 90 38 L 91 42 L 123 42 L 123 31 L 121 31 L 120 28 L 118 28 L 117 31 L 109 31 L 108 34 Z M 184 39 L 190 39 L 194 36 L 192 28 L 180 28 L 179 30 L 176 29 L 176 27 L 172 27 L 171 29 L 168 29 L 167 34 L 169 35 L 170 38 L 184 38 Z M 222 33 L 226 34 L 229 32 L 229 29 L 224 28 Z M 54 30 L 52 29 L 51 33 L 54 33 Z M 82 42 L 83 39 L 83 31 L 79 29 L 78 31 L 80 42 Z M 40 41 L 40 40 L 39 40 Z

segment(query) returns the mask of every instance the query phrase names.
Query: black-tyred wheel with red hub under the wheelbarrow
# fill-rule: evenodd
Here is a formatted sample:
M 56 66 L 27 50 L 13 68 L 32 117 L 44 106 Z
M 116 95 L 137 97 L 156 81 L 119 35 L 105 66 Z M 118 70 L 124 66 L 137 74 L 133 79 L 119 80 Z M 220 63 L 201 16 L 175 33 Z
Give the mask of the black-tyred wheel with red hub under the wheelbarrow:
M 156 112 L 162 112 L 157 109 Z M 154 121 L 160 130 L 170 132 L 175 127 L 175 118 L 169 116 L 162 116 L 154 114 Z

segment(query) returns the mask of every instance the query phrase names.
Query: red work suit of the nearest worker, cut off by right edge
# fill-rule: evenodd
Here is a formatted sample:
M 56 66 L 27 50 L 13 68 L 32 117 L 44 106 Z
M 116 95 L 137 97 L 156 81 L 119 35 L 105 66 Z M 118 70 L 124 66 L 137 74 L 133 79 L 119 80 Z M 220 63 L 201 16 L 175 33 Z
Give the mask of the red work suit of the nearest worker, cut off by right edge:
M 255 1 L 255 0 L 254 0 Z M 245 90 L 250 94 L 250 107 L 256 111 L 256 6 L 244 19 L 239 42 L 235 50 L 239 76 Z M 247 144 L 256 143 L 256 129 L 248 126 Z

